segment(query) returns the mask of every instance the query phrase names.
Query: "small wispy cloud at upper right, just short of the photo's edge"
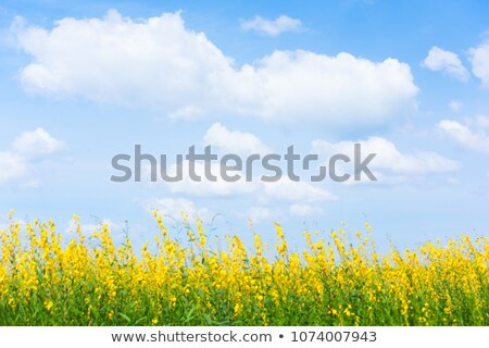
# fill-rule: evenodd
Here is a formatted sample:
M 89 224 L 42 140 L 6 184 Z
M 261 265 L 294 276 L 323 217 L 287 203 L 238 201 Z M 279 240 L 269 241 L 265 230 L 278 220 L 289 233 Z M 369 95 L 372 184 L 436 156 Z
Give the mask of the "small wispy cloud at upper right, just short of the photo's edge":
M 467 80 L 469 74 L 459 55 L 434 46 L 424 61 L 424 65 L 432 71 L 443 72 L 460 80 Z

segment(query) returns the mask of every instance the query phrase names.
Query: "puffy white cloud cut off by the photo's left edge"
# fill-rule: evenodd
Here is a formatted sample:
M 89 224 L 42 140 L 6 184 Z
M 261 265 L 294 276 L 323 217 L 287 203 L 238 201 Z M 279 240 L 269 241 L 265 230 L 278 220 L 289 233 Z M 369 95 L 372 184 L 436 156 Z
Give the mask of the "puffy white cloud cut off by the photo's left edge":
M 0 186 L 28 177 L 33 171 L 32 160 L 63 149 L 64 144 L 42 128 L 23 133 L 13 141 L 11 149 L 0 151 Z M 38 186 L 39 183 L 34 179 L 18 184 L 22 189 Z

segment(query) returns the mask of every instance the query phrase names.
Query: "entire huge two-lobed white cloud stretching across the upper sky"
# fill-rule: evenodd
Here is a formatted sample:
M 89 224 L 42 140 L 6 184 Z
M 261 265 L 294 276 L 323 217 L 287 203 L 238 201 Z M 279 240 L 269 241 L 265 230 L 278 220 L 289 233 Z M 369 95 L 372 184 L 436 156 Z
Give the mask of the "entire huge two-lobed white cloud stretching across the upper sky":
M 396 59 L 275 51 L 237 67 L 179 13 L 135 21 L 112 10 L 103 18 L 63 18 L 52 29 L 17 26 L 15 34 L 33 59 L 21 70 L 25 88 L 158 108 L 173 119 L 227 113 L 361 126 L 416 108 L 410 66 Z

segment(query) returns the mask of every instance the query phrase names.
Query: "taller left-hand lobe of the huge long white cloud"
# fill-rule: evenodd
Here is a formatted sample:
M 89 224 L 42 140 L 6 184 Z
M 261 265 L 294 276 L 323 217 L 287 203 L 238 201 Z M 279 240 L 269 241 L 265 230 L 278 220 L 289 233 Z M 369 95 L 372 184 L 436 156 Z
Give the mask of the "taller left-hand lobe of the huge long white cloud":
M 162 105 L 185 117 L 214 98 L 212 79 L 231 69 L 203 33 L 185 28 L 179 13 L 133 21 L 111 10 L 101 20 L 63 18 L 52 30 L 20 28 L 17 37 L 34 58 L 21 71 L 29 89 Z

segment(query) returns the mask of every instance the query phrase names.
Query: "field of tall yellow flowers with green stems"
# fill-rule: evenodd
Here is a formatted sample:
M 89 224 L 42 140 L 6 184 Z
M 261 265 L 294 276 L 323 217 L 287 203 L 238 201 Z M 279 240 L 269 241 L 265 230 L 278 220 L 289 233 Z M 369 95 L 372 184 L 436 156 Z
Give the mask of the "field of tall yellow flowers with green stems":
M 183 217 L 187 221 L 188 217 Z M 489 240 L 461 236 L 378 254 L 371 229 L 304 232 L 291 251 L 237 236 L 210 247 L 202 221 L 177 241 L 115 245 L 106 225 L 62 240 L 53 222 L 0 231 L 0 325 L 489 325 Z

